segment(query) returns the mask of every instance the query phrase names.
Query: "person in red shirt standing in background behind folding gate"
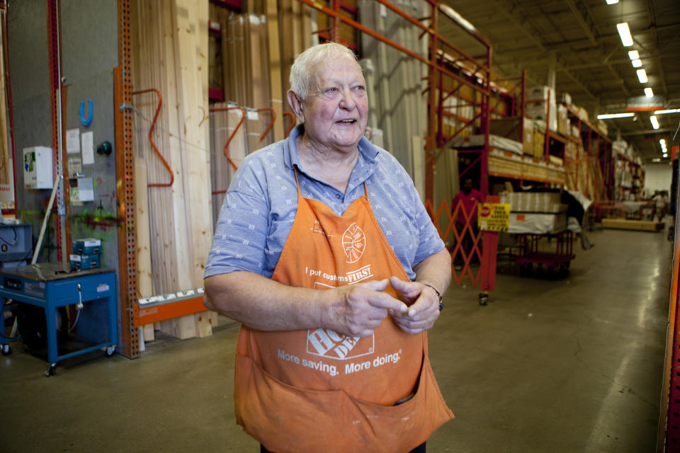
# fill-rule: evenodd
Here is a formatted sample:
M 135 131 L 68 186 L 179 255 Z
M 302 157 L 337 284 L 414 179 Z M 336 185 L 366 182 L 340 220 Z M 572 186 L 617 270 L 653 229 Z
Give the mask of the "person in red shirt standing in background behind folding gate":
M 476 251 L 473 250 L 473 245 L 474 238 L 480 234 L 480 230 L 477 227 L 477 204 L 483 203 L 484 200 L 484 195 L 482 195 L 479 190 L 472 188 L 472 179 L 465 178 L 465 180 L 463 180 L 463 188 L 455 194 L 455 197 L 453 197 L 453 201 L 451 202 L 452 213 L 455 213 L 456 208 L 458 208 L 458 216 L 455 218 L 455 228 L 463 243 L 465 256 L 470 256 L 470 253 L 472 253 L 470 263 L 479 263 L 482 254 L 481 242 L 478 243 L 480 246 L 479 256 L 477 256 Z M 465 227 L 468 223 L 467 218 L 470 219 L 470 228 Z M 463 268 L 463 254 L 460 253 L 460 251 L 453 257 L 453 266 L 455 270 Z

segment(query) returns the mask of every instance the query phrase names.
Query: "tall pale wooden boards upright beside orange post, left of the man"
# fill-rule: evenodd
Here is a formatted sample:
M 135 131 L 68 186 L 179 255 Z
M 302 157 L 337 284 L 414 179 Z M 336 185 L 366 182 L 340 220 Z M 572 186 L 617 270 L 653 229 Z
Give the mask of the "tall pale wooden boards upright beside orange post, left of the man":
M 151 187 L 146 194 L 152 291 L 165 294 L 201 287 L 212 243 L 208 2 L 133 0 L 130 21 L 132 91 L 156 88 L 162 95 L 152 138 L 174 176 L 171 186 Z M 133 144 L 137 159 L 146 161 L 149 184 L 171 180 L 148 139 L 157 103 L 155 93 L 132 97 Z M 187 338 L 191 324 L 194 336 L 206 333 L 200 326 L 205 318 L 189 315 L 164 321 L 161 328 Z

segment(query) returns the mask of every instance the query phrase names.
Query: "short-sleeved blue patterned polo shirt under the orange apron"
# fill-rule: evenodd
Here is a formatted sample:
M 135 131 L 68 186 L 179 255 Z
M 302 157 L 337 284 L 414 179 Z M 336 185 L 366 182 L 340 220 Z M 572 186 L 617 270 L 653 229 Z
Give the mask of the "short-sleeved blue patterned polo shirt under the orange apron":
M 342 215 L 368 188 L 368 200 L 382 233 L 414 280 L 413 268 L 444 247 L 408 173 L 384 149 L 362 138 L 345 193 L 305 172 L 295 146 L 303 125 L 290 136 L 246 156 L 234 175 L 212 239 L 205 277 L 246 270 L 271 277 L 302 196 Z

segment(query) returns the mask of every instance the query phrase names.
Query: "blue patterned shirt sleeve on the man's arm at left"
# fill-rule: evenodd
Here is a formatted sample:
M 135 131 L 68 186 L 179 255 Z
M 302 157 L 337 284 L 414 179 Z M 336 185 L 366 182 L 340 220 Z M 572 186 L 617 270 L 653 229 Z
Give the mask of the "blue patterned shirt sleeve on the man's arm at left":
M 244 161 L 234 176 L 217 218 L 204 277 L 237 270 L 263 273 L 269 202 L 258 173 L 263 174 Z

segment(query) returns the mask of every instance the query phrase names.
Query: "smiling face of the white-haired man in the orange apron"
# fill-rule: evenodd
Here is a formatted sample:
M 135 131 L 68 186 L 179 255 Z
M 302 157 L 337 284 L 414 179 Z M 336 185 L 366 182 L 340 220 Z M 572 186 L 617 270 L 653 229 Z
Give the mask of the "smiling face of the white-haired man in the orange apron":
M 305 134 L 327 147 L 356 147 L 368 120 L 365 86 L 361 68 L 348 55 L 319 64 L 302 104 Z

